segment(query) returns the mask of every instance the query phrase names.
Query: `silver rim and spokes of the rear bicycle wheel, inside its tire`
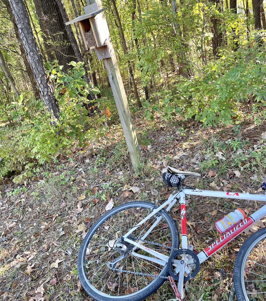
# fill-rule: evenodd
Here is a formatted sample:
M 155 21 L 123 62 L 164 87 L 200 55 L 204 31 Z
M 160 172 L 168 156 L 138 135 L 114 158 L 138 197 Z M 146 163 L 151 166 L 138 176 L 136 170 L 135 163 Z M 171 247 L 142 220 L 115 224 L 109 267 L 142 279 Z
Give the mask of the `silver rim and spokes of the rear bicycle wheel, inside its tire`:
M 155 281 L 162 282 L 163 278 L 158 279 L 158 277 L 154 278 L 126 272 L 111 271 L 107 266 L 108 262 L 121 256 L 121 252 L 112 250 L 114 244 L 118 242 L 119 238 L 125 234 L 129 228 L 132 228 L 133 225 L 136 225 L 144 219 L 152 209 L 153 206 L 147 204 L 127 206 L 125 209 L 121 208 L 112 215 L 106 216 L 105 221 L 100 221 L 93 227 L 87 246 L 83 249 L 83 253 L 80 254 L 80 256 L 83 256 L 84 259 L 84 265 L 82 267 L 84 279 L 89 287 L 98 295 L 108 296 L 108 298 L 113 299 L 125 298 L 125 296 L 132 297 L 140 293 L 140 290 L 147 291 L 148 288 L 155 284 Z M 161 221 L 145 240 L 171 246 L 171 232 L 174 233 L 174 229 L 171 227 L 171 224 L 165 220 L 165 218 L 167 219 L 165 214 L 162 213 L 160 216 L 162 217 Z M 115 222 L 115 220 L 119 222 Z M 151 228 L 155 220 L 156 217 L 152 217 L 149 221 L 144 223 L 142 228 L 136 229 L 136 231 L 132 233 L 134 237 L 143 237 L 145 231 Z M 176 244 L 176 241 L 173 241 L 173 244 Z M 152 247 L 153 250 L 157 250 L 168 256 L 171 251 L 167 248 L 154 246 L 147 242 L 144 242 L 143 245 L 148 248 Z M 116 268 L 130 272 L 165 276 L 167 265 L 162 266 L 154 262 L 151 263 L 143 258 L 137 258 L 133 256 L 133 246 L 128 245 L 127 247 L 127 257 L 119 261 Z M 137 249 L 135 252 L 151 256 L 143 250 Z

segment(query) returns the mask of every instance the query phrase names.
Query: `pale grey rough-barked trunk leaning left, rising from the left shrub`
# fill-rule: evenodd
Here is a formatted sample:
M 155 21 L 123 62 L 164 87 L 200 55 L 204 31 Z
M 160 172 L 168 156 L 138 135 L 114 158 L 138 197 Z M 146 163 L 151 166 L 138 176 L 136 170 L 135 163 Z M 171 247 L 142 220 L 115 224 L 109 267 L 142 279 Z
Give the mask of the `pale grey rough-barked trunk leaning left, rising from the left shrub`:
M 38 45 L 32 32 L 29 16 L 22 0 L 8 0 L 13 11 L 20 39 L 32 67 L 38 84 L 41 98 L 53 117 L 59 119 L 59 106 L 53 95 L 53 87 L 49 82 Z

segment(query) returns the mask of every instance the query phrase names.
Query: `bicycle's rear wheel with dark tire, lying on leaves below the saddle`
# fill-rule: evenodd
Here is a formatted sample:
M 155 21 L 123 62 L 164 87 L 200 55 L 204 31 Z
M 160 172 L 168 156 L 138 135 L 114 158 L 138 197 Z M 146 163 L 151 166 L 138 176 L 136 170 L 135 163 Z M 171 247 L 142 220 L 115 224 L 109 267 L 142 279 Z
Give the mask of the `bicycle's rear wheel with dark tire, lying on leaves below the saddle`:
M 143 276 L 126 272 L 113 271 L 107 262 L 121 256 L 117 250 L 112 250 L 112 244 L 123 234 L 133 228 L 148 213 L 151 213 L 154 204 L 148 202 L 132 202 L 120 205 L 98 219 L 87 233 L 78 256 L 78 275 L 86 292 L 97 301 L 140 301 L 154 293 L 168 276 L 167 264 L 162 266 L 147 259 L 137 258 L 128 252 L 128 256 L 117 264 L 116 268 L 131 272 L 139 272 L 159 277 Z M 150 218 L 143 227 L 138 227 L 132 233 L 134 237 L 143 237 L 144 231 L 151 228 L 152 222 L 162 217 L 159 224 L 152 229 L 145 240 L 154 241 L 179 247 L 177 225 L 171 215 L 162 209 L 156 216 Z M 134 221 L 133 221 L 134 218 Z M 125 226 L 123 226 L 125 222 Z M 108 232 L 108 229 L 111 229 Z M 146 247 L 170 255 L 173 250 L 143 242 Z M 129 248 L 133 246 L 129 246 Z M 108 250 L 107 250 L 108 248 Z M 100 250 L 101 249 L 101 250 Z M 139 254 L 152 257 L 147 252 L 136 249 Z M 100 255 L 101 254 L 101 255 Z M 137 266 L 138 265 L 138 266 Z M 145 265 L 145 267 L 144 267 Z M 100 278 L 101 277 L 101 278 Z M 100 284 L 99 284 L 100 283 Z

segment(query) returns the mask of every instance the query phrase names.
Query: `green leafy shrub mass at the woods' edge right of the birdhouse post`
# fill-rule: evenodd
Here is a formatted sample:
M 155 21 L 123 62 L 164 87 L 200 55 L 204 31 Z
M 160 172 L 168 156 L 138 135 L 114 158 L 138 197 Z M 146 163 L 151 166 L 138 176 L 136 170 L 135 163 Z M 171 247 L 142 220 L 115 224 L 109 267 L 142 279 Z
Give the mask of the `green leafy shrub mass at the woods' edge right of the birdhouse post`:
M 248 49 L 221 55 L 207 64 L 198 76 L 183 78 L 177 84 L 177 93 L 161 93 L 159 104 L 144 103 L 145 116 L 153 118 L 160 111 L 164 119 L 181 114 L 194 118 L 204 126 L 232 124 L 248 112 L 257 124 L 266 117 L 265 51 Z

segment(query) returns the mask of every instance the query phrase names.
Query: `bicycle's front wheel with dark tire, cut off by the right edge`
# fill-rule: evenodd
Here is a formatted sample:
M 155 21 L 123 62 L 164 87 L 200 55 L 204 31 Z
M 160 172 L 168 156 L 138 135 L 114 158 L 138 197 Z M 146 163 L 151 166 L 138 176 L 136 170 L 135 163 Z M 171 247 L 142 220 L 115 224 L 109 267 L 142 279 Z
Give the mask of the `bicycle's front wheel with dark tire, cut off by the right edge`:
M 252 234 L 242 245 L 234 265 L 238 301 L 266 300 L 266 228 Z

